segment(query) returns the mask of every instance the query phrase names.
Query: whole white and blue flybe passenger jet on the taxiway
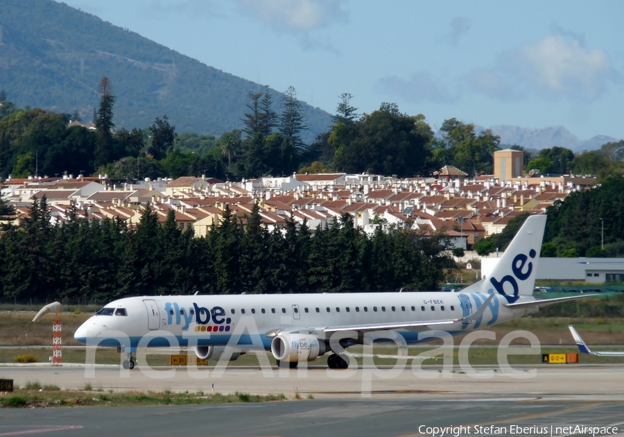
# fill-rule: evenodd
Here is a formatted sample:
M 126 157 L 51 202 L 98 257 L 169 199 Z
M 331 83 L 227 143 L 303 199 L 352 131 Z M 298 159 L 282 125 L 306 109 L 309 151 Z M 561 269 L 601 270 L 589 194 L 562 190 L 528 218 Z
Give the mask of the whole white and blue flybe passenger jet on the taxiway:
M 577 298 L 536 300 L 532 296 L 545 225 L 544 215 L 527 218 L 492 276 L 459 293 L 124 298 L 89 318 L 75 338 L 87 345 L 123 348 L 128 357 L 125 368 L 135 367 L 132 353 L 137 347 L 169 346 L 172 339 L 194 348 L 200 359 L 220 359 L 225 354 L 232 360 L 250 350 L 269 350 L 278 366 L 295 368 L 300 361 L 329 353 L 329 368 L 346 368 L 346 357 L 340 352 L 351 345 L 390 339 L 390 334 L 398 334 L 407 344 L 431 339 L 427 334 L 431 331 L 464 334 Z

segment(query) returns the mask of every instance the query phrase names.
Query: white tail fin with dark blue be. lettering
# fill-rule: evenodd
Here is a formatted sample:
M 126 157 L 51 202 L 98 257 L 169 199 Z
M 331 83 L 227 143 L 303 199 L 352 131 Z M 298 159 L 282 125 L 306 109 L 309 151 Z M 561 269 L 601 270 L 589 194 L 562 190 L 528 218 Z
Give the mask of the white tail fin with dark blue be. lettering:
M 496 292 L 509 303 L 516 302 L 520 295 L 532 295 L 544 228 L 545 215 L 529 216 L 494 267 L 492 276 L 462 291 Z

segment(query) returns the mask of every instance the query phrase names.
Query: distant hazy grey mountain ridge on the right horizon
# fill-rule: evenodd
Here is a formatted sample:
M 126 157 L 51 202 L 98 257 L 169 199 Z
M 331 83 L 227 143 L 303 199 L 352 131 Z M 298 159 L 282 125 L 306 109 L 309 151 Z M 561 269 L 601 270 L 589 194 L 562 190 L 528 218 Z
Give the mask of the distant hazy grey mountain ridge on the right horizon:
M 596 135 L 590 139 L 578 139 L 569 130 L 563 126 L 555 126 L 553 128 L 520 128 L 519 126 L 492 126 L 489 128 L 494 135 L 501 137 L 501 144 L 517 144 L 525 148 L 541 150 L 542 148 L 551 148 L 560 146 L 569 148 L 571 151 L 580 152 L 584 150 L 597 150 L 603 144 L 609 142 L 617 142 L 618 139 L 607 137 L 605 135 Z M 483 128 L 478 128 L 480 132 Z

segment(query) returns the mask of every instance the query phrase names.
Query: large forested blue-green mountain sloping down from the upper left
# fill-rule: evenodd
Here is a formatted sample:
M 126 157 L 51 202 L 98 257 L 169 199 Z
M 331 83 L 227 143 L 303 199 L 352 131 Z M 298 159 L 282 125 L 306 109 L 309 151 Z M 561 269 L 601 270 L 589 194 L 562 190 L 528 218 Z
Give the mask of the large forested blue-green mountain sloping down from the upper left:
M 78 110 L 91 121 L 103 76 L 116 96 L 117 128 L 144 128 L 167 114 L 177 132 L 221 135 L 243 126 L 248 92 L 264 90 L 64 3 L 1 0 L 0 89 L 10 101 Z M 273 93 L 278 112 L 282 97 Z M 303 108 L 310 126 L 303 139 L 310 144 L 331 126 L 331 115 Z

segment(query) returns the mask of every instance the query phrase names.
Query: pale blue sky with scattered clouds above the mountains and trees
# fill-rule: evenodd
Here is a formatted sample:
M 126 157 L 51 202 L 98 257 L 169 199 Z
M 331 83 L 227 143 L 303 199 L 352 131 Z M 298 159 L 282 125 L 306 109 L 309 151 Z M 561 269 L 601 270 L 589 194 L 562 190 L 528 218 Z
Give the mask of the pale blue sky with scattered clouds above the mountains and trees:
M 333 114 L 624 138 L 624 1 L 64 0 Z

